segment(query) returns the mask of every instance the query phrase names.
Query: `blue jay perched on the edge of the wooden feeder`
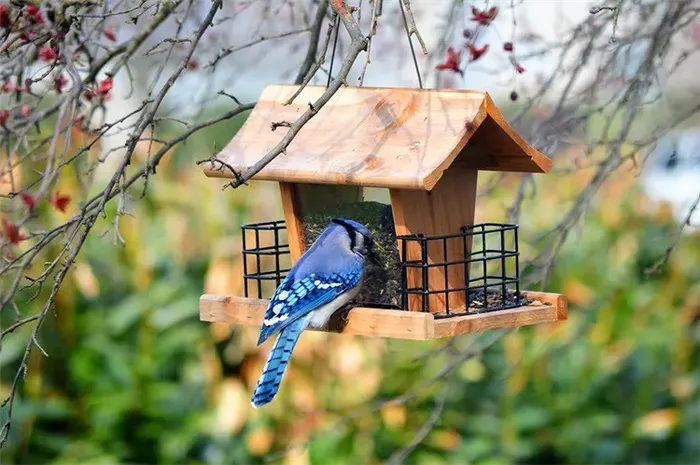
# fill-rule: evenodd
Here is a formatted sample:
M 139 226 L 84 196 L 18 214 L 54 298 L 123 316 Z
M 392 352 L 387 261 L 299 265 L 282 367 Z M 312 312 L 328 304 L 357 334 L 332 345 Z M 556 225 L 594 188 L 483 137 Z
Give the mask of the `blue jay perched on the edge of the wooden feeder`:
M 306 328 L 322 328 L 359 292 L 365 259 L 379 264 L 372 234 L 335 218 L 289 271 L 270 299 L 258 345 L 279 332 L 251 398 L 253 407 L 275 397 L 292 350 Z

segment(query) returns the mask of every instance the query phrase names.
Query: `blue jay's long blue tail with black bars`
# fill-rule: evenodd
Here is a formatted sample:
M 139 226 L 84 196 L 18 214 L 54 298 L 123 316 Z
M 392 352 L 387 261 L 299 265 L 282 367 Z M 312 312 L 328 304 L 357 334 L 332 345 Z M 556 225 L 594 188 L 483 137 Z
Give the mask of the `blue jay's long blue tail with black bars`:
M 299 340 L 301 332 L 306 328 L 308 316 L 299 318 L 277 335 L 275 345 L 267 357 L 263 372 L 253 391 L 251 403 L 253 407 L 260 407 L 270 402 L 280 387 L 284 370 L 287 368 L 292 350 Z

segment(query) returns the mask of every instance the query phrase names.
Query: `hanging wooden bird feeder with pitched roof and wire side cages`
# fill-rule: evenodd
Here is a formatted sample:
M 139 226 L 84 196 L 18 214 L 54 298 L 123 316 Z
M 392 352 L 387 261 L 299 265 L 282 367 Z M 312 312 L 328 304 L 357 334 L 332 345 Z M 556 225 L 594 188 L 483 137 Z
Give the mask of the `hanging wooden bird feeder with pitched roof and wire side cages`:
M 218 154 L 222 163 L 208 163 L 205 174 L 232 177 L 231 169 L 245 172 L 261 160 L 325 91 L 307 86 L 289 103 L 298 89 L 265 88 Z M 487 93 L 343 87 L 254 176 L 279 182 L 284 220 L 243 226 L 245 295 L 203 295 L 200 317 L 259 327 L 266 298 L 314 239 L 305 220 L 330 212 L 365 222 L 343 214 L 344 206 L 368 203 L 369 189 L 383 188 L 390 200 L 377 224 L 389 225 L 385 247 L 393 252 L 384 265 L 396 271 L 396 295 L 357 302 L 341 332 L 433 339 L 566 319 L 561 294 L 520 289 L 517 225 L 474 224 L 479 170 L 551 166 Z M 389 287 L 380 282 L 379 292 Z

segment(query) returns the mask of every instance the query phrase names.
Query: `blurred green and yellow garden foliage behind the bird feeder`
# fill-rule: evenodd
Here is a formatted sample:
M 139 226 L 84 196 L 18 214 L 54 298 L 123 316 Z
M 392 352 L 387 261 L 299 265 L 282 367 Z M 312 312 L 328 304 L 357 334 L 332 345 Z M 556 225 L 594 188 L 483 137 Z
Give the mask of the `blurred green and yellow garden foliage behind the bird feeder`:
M 440 6 L 432 8 L 434 3 Z M 619 79 L 593 95 L 595 99 L 586 100 L 590 95 L 585 84 L 576 94 L 576 99 L 586 100 L 585 107 L 573 96 L 572 103 L 566 103 L 568 90 L 559 78 L 561 88 L 537 93 L 548 73 L 557 76 L 562 65 L 550 56 L 538 58 L 536 45 L 557 40 L 563 34 L 560 29 L 571 32 L 592 21 L 588 18 L 596 16 L 589 2 L 571 2 L 566 8 L 562 2 L 515 2 L 519 16 L 508 12 L 515 8 L 512 2 L 491 3 L 502 8 L 494 23 L 498 28 L 489 32 L 494 37 L 509 36 L 516 17 L 514 36 L 540 28 L 530 60 L 523 60 L 527 72 L 515 83 L 510 69 L 500 79 L 496 57 L 494 62 L 475 63 L 481 68 L 466 71 L 464 78 L 435 72 L 443 60 L 442 45 L 459 46 L 471 7 L 434 3 L 413 2 L 418 27 L 437 55 L 421 61 L 426 74 L 433 76 L 430 85 L 488 90 L 524 137 L 554 159 L 552 173 L 527 182 L 516 174 L 480 175 L 477 221 L 511 220 L 513 199 L 519 199 L 521 260 L 537 263 L 543 250 L 559 244 L 546 273 L 542 266 L 525 267 L 523 279 L 532 290 L 565 294 L 569 319 L 431 342 L 309 332 L 294 351 L 275 401 L 253 409 L 250 393 L 269 344 L 256 347 L 255 328 L 206 324 L 198 315 L 203 293 L 242 294 L 240 226 L 282 218 L 274 183 L 251 182 L 222 192 L 222 181 L 194 168 L 196 160 L 231 139 L 245 121 L 244 114 L 198 131 L 173 148 L 143 198 L 135 194 L 126 206 L 108 205 L 108 215 L 117 208 L 128 213 L 119 221 L 125 245 L 113 245 L 112 231 L 93 235 L 67 275 L 55 311 L 41 330 L 41 346 L 49 356 L 36 350 L 29 356 L 10 440 L 0 450 L 1 463 L 525 465 L 700 460 L 700 216 L 689 210 L 700 193 L 700 119 L 695 111 L 687 115 L 700 101 L 697 57 L 688 53 L 682 66 L 675 66 L 675 59 L 666 68 L 659 64 L 659 69 L 672 72 L 654 78 L 647 92 L 651 97 L 637 102 L 641 109 L 630 135 L 618 120 L 611 129 L 602 110 L 586 110 L 604 107 L 610 95 L 635 85 L 634 67 L 646 63 L 645 48 L 637 61 L 634 50 L 618 57 Z M 461 8 L 457 20 L 447 23 L 455 3 Z M 245 23 L 243 14 L 260 16 L 263 13 L 255 9 L 264 9 L 262 5 L 241 12 L 236 21 Z M 649 14 L 661 21 L 667 13 L 662 10 L 659 6 Z M 391 15 L 397 12 L 387 6 L 383 16 L 396 22 Z M 680 38 L 669 45 L 668 56 L 697 48 L 700 22 L 697 9 L 691 12 L 695 16 L 690 20 L 679 20 Z M 625 18 L 617 26 L 623 37 L 625 24 L 636 31 L 643 16 L 630 13 Z M 274 29 L 280 23 L 277 17 L 272 25 L 263 24 Z M 231 34 L 249 40 L 264 35 L 264 27 L 232 28 Z M 391 32 L 381 35 L 381 23 L 379 31 L 377 63 L 372 61 L 365 84 L 415 86 L 407 50 L 394 54 Z M 607 18 L 597 33 L 607 44 L 612 19 Z M 126 27 L 123 34 L 129 37 Z M 227 37 L 217 40 L 233 40 Z M 280 43 L 294 48 L 296 42 Z M 501 47 L 490 43 L 492 52 Z M 623 39 L 615 47 L 630 43 Z M 297 49 L 284 61 L 292 70 L 305 52 Z M 259 50 L 284 53 L 270 44 Z M 255 55 L 259 50 L 249 52 Z M 610 50 L 604 45 L 593 53 L 609 55 Z M 577 53 L 572 60 L 580 58 Z M 403 57 L 396 58 L 401 66 L 392 57 Z M 200 108 L 193 117 L 202 120 L 229 109 L 225 99 L 197 100 L 196 91 L 223 86 L 220 79 L 238 66 L 245 66 L 245 72 L 237 73 L 231 86 L 242 101 L 254 101 L 264 85 L 293 80 L 275 63 L 279 59 L 270 57 L 251 63 L 247 55 L 233 57 L 216 73 L 194 70 L 177 84 L 182 87 L 175 88 L 168 102 L 169 114 L 192 116 L 192 101 Z M 148 76 L 147 61 L 135 65 L 134 72 Z M 631 77 L 625 77 L 627 72 Z M 113 114 L 133 108 L 143 98 L 138 89 L 134 95 L 126 90 L 127 81 L 116 81 L 115 98 L 107 106 Z M 513 90 L 520 96 L 515 101 Z M 567 115 L 577 121 L 576 130 L 552 124 L 561 118 L 562 105 L 572 107 Z M 622 113 L 625 105 L 620 104 Z M 680 123 L 671 127 L 670 121 L 676 120 Z M 168 140 L 180 129 L 172 121 L 159 124 L 154 134 Z M 616 139 L 620 134 L 624 137 Z M 642 145 L 643 135 L 653 135 L 654 143 Z M 76 148 L 84 143 L 80 137 L 76 133 L 71 142 Z M 123 145 L 119 137 L 115 134 L 96 150 Z M 644 152 L 645 163 L 633 156 L 618 157 L 614 173 L 598 183 L 600 162 L 611 156 L 611 140 L 623 153 Z M 139 144 L 135 162 L 147 159 L 149 150 L 149 144 Z M 58 183 L 61 192 L 81 197 L 83 186 L 71 172 L 62 172 Z M 593 185 L 596 191 L 588 196 Z M 78 202 L 66 213 L 47 205 L 38 215 L 53 225 L 77 209 Z M 571 216 L 572 211 L 580 215 Z M 104 220 L 98 225 L 98 233 L 107 231 L 106 224 Z M 36 313 L 40 305 L 27 300 L 23 311 Z M 26 336 L 28 331 L 18 334 Z M 2 398 L 10 392 L 25 342 L 20 337 L 2 340 Z

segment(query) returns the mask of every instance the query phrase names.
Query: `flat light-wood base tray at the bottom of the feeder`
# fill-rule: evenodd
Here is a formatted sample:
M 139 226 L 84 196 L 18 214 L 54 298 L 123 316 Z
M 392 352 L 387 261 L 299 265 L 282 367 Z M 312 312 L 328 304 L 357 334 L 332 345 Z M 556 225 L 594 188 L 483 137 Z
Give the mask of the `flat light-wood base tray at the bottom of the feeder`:
M 393 339 L 428 340 L 478 333 L 489 329 L 512 328 L 565 320 L 566 297 L 548 292 L 522 291 L 542 303 L 506 310 L 435 319 L 432 313 L 354 307 L 340 333 Z M 199 299 L 202 321 L 260 327 L 268 300 L 204 294 Z

